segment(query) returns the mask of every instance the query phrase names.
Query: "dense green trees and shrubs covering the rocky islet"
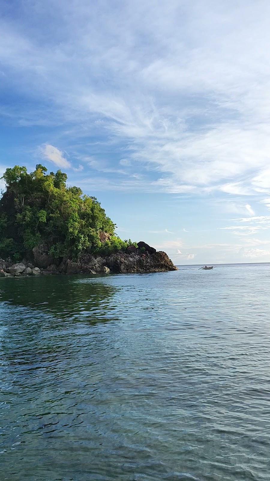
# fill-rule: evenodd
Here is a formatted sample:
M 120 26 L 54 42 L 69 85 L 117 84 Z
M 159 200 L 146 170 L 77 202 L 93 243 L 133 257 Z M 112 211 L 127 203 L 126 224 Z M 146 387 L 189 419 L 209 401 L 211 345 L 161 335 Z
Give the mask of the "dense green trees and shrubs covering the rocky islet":
M 47 174 L 46 167 L 37 164 L 27 173 L 26 167 L 15 165 L 2 179 L 7 188 L 0 199 L 0 257 L 21 260 L 42 242 L 54 257 L 72 259 L 86 248 L 108 254 L 131 243 L 115 235 L 115 224 L 96 197 L 66 186 L 61 170 Z M 104 243 L 102 231 L 110 234 Z

